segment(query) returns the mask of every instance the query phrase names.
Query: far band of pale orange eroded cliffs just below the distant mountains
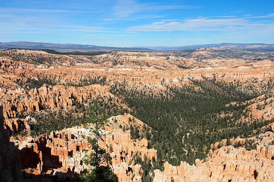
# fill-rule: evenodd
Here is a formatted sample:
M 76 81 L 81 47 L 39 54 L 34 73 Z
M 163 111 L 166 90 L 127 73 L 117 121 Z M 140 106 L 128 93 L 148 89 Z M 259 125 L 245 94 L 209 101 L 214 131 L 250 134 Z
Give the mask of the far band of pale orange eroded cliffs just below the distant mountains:
M 0 61 L 3 65 L 9 65 L 6 62 L 10 61 L 17 64 L 21 62 L 20 64 L 30 67 L 35 65 L 35 69 L 14 66 L 13 68 L 17 69 L 14 75 L 19 77 L 17 79 L 48 78 L 61 83 L 79 83 L 88 77 L 106 76 L 107 81 L 112 83 L 126 80 L 134 87 L 146 85 L 161 89 L 163 80 L 166 84 L 181 84 L 189 83 L 189 78 L 202 79 L 202 76 L 228 82 L 273 78 L 271 60 L 256 60 L 256 56 L 253 60 L 244 59 L 244 56 L 242 59 L 220 58 L 217 55 L 212 58 L 212 51 L 213 49 L 197 50 L 188 56 L 176 52 L 126 51 L 112 51 L 98 56 L 77 56 L 13 49 L 1 51 Z M 262 57 L 263 55 L 260 55 L 260 59 Z M 10 70 L 8 68 L 9 66 L 2 67 L 4 70 Z M 14 80 L 10 77 L 8 79 Z M 0 83 L 1 81 L 5 83 L 7 80 L 0 78 Z

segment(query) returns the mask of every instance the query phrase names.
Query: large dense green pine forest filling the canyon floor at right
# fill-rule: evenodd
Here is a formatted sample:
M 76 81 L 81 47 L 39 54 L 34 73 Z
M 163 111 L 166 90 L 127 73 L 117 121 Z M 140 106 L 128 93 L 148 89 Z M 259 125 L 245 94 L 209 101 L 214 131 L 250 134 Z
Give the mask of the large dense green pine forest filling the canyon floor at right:
M 193 86 L 171 85 L 162 93 L 153 89 L 127 89 L 127 83 L 116 83 L 111 88 L 112 93 L 125 96 L 132 115 L 152 128 L 151 135 L 145 133 L 149 147 L 157 150 L 158 160 L 153 165 L 159 169 L 165 161 L 172 165 L 179 165 L 180 161 L 192 164 L 196 158 L 207 156 L 212 143 L 233 136 L 251 136 L 253 130 L 270 122 L 237 123 L 246 114 L 245 101 L 262 94 L 251 86 L 214 78 L 190 81 Z M 260 86 L 265 92 L 268 90 L 268 86 Z M 130 129 L 134 138 L 135 129 Z

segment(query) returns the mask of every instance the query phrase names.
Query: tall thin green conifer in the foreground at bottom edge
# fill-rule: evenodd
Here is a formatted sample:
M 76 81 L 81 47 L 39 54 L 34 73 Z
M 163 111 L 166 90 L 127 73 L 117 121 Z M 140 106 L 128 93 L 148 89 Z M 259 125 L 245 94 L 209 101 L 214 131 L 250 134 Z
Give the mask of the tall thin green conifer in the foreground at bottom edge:
M 99 106 L 94 103 L 90 106 L 90 112 L 88 113 L 87 123 L 94 125 L 92 133 L 94 138 L 86 137 L 92 146 L 93 152 L 86 155 L 84 163 L 92 166 L 92 169 L 79 175 L 79 179 L 84 182 L 116 182 L 117 179 L 114 176 L 109 165 L 111 164 L 111 157 L 106 150 L 100 148 L 98 140 L 102 137 L 101 128 L 107 123 L 107 120 L 102 114 L 100 114 Z M 102 164 L 107 164 L 106 166 Z

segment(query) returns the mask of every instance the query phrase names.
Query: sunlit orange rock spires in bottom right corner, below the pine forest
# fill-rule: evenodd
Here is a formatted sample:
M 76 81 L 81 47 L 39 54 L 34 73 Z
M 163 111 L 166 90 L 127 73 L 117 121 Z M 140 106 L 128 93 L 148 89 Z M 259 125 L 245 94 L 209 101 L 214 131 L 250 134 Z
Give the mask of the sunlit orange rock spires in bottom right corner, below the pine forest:
M 274 146 L 258 145 L 256 150 L 224 146 L 208 154 L 195 165 L 181 162 L 180 166 L 164 164 L 164 171 L 154 170 L 153 182 L 241 182 L 274 181 Z

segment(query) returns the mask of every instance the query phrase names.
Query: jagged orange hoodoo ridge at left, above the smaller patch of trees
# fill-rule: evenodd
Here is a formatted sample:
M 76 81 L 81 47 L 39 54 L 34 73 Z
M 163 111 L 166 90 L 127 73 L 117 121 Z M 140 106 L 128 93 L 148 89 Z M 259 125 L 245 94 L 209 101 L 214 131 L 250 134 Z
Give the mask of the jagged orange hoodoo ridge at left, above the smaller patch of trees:
M 71 109 L 76 100 L 83 103 L 99 97 L 114 98 L 115 96 L 109 92 L 108 86 L 100 85 L 83 87 L 43 85 L 29 92 L 20 88 L 9 91 L 1 89 L 4 127 L 10 131 L 10 134 L 17 133 L 29 127 L 26 119 L 18 118 L 18 113 L 40 111 L 41 106 L 48 106 L 51 109 L 58 107 Z

